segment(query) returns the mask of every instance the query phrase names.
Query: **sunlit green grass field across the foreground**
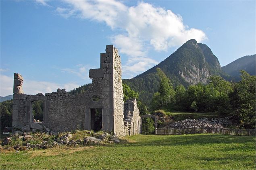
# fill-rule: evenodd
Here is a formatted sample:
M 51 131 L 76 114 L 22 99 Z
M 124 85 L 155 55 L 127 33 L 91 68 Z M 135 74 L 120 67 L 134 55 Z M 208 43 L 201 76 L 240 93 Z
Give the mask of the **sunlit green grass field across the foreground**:
M 1 152 L 0 169 L 255 169 L 255 137 L 133 135 L 120 144 Z

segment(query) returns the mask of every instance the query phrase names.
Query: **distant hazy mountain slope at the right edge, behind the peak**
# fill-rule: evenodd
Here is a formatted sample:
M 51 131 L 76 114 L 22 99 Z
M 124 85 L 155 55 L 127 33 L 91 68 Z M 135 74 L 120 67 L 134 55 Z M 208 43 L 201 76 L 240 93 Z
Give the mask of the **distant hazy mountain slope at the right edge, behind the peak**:
M 245 70 L 250 75 L 256 75 L 256 54 L 241 57 L 221 69 L 233 77 L 234 81 L 241 80 L 239 70 Z

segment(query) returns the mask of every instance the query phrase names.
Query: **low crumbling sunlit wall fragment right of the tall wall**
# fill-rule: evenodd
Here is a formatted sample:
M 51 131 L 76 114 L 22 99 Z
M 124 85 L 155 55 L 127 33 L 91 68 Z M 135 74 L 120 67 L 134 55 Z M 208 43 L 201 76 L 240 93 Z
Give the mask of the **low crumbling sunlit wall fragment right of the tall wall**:
M 141 132 L 141 117 L 136 98 L 129 99 L 124 104 L 124 125 L 128 128 L 126 135 L 135 135 Z

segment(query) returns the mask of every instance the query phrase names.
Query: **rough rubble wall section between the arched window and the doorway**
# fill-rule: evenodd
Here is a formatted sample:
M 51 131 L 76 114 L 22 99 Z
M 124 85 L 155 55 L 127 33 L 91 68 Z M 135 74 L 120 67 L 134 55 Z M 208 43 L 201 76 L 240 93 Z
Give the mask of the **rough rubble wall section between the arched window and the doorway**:
M 44 125 L 54 132 L 72 131 L 83 129 L 84 112 L 83 106 L 76 96 L 68 94 L 65 89 L 57 92 L 46 93 L 47 119 Z

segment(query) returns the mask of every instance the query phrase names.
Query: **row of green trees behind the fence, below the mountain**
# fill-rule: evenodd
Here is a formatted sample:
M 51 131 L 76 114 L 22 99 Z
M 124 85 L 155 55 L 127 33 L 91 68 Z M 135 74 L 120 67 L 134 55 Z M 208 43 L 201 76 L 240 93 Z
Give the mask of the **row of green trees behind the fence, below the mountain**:
M 221 115 L 233 116 L 241 128 L 255 128 L 256 76 L 242 70 L 239 82 L 211 76 L 208 84 L 199 83 L 188 88 L 179 85 L 174 88 L 160 68 L 157 68 L 157 74 L 160 87 L 151 100 L 151 112 L 158 109 L 219 112 Z

